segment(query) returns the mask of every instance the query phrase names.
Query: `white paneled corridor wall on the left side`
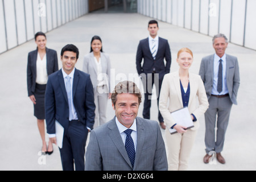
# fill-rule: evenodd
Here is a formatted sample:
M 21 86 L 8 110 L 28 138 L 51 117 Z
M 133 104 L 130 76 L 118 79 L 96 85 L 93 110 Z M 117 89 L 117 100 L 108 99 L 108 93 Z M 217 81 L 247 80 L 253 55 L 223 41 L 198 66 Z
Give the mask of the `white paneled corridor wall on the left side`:
M 0 53 L 88 13 L 88 0 L 0 0 Z

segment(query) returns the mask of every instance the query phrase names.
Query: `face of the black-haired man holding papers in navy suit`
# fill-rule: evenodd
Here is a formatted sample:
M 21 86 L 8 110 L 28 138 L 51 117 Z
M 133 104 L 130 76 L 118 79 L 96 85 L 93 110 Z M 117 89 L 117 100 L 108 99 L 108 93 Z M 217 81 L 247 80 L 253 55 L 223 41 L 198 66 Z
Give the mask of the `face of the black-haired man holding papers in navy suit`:
M 65 51 L 63 56 L 60 57 L 62 62 L 62 67 L 65 73 L 69 75 L 73 69 L 75 68 L 75 64 L 77 62 L 76 52 Z

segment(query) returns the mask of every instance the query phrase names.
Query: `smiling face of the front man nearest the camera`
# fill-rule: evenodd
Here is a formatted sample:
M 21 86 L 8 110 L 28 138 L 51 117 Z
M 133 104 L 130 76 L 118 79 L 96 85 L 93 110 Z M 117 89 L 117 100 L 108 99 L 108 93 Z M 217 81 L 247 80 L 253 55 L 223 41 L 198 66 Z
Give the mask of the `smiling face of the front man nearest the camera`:
M 112 103 L 115 116 L 118 121 L 127 128 L 133 125 L 134 119 L 138 115 L 139 100 L 134 94 L 122 93 L 117 95 L 117 102 Z

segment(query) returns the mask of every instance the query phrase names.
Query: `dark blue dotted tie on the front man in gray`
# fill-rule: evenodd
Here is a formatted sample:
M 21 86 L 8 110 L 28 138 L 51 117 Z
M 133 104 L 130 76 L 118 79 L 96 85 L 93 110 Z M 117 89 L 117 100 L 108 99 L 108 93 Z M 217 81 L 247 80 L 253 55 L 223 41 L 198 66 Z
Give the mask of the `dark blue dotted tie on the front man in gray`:
M 131 165 L 134 167 L 135 147 L 134 147 L 134 143 L 133 143 L 133 138 L 131 138 L 131 132 L 133 132 L 133 130 L 128 129 L 125 131 L 125 134 L 126 134 L 125 149 L 129 156 Z

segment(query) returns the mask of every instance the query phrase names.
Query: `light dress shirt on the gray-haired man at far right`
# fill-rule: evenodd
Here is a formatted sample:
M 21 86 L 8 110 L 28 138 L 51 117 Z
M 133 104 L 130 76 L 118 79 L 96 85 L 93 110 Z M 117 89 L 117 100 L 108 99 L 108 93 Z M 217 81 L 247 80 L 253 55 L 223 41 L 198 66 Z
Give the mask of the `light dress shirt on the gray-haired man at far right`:
M 222 60 L 222 92 L 218 93 L 217 85 L 218 85 L 218 67 L 220 65 L 220 60 Z M 221 96 L 229 93 L 228 86 L 226 85 L 226 54 L 224 56 L 219 57 L 216 53 L 214 55 L 214 77 L 213 77 L 213 89 L 212 94 L 216 96 Z

